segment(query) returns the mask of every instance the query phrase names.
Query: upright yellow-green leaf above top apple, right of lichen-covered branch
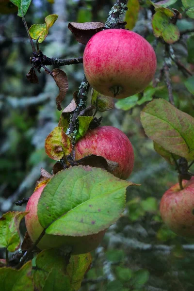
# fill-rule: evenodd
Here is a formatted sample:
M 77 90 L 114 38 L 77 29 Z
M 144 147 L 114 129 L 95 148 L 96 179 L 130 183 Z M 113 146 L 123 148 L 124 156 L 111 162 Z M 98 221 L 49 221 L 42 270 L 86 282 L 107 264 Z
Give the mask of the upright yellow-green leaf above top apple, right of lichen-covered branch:
M 128 0 L 127 3 L 128 10 L 125 15 L 125 20 L 127 22 L 126 29 L 132 30 L 138 19 L 140 4 L 138 0 Z

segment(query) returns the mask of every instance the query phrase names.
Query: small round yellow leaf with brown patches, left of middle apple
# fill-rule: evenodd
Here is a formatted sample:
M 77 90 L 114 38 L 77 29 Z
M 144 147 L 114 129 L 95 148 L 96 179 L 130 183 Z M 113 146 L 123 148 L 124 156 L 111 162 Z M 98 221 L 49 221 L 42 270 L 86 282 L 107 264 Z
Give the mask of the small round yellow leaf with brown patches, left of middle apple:
M 67 156 L 72 151 L 71 140 L 62 127 L 53 129 L 45 140 L 45 151 L 48 156 L 57 161 Z

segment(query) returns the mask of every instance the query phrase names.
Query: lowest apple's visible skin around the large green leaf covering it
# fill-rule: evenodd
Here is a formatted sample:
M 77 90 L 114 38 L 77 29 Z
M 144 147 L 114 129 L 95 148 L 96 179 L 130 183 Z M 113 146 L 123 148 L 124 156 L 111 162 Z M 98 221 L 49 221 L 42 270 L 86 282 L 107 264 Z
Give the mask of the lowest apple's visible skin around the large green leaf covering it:
M 39 187 L 32 194 L 26 206 L 26 211 L 30 212 L 25 216 L 25 223 L 32 242 L 35 242 L 43 231 L 43 227 L 40 225 L 38 221 L 37 205 L 40 195 L 45 186 L 46 185 Z M 40 242 L 37 244 L 37 247 L 41 250 L 64 247 L 65 249 L 67 248 L 69 250 L 72 250 L 71 254 L 80 255 L 96 249 L 98 244 L 103 239 L 105 231 L 106 229 L 100 231 L 97 234 L 82 237 L 57 236 L 45 234 L 43 238 L 40 240 Z

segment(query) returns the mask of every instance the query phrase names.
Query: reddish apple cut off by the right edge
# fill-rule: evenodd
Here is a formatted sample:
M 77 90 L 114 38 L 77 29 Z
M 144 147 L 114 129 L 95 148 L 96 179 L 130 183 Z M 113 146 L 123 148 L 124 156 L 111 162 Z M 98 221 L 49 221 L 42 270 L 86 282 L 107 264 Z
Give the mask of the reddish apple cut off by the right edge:
M 164 223 L 180 236 L 194 237 L 194 177 L 175 184 L 162 196 L 160 211 Z

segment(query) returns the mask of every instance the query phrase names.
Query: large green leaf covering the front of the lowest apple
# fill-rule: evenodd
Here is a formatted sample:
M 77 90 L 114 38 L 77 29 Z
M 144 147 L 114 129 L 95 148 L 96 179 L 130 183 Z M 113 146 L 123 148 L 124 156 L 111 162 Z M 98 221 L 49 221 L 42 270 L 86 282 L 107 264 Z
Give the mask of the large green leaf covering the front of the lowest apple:
M 129 185 L 100 168 L 74 166 L 58 172 L 39 198 L 39 222 L 48 234 L 96 234 L 120 217 Z

